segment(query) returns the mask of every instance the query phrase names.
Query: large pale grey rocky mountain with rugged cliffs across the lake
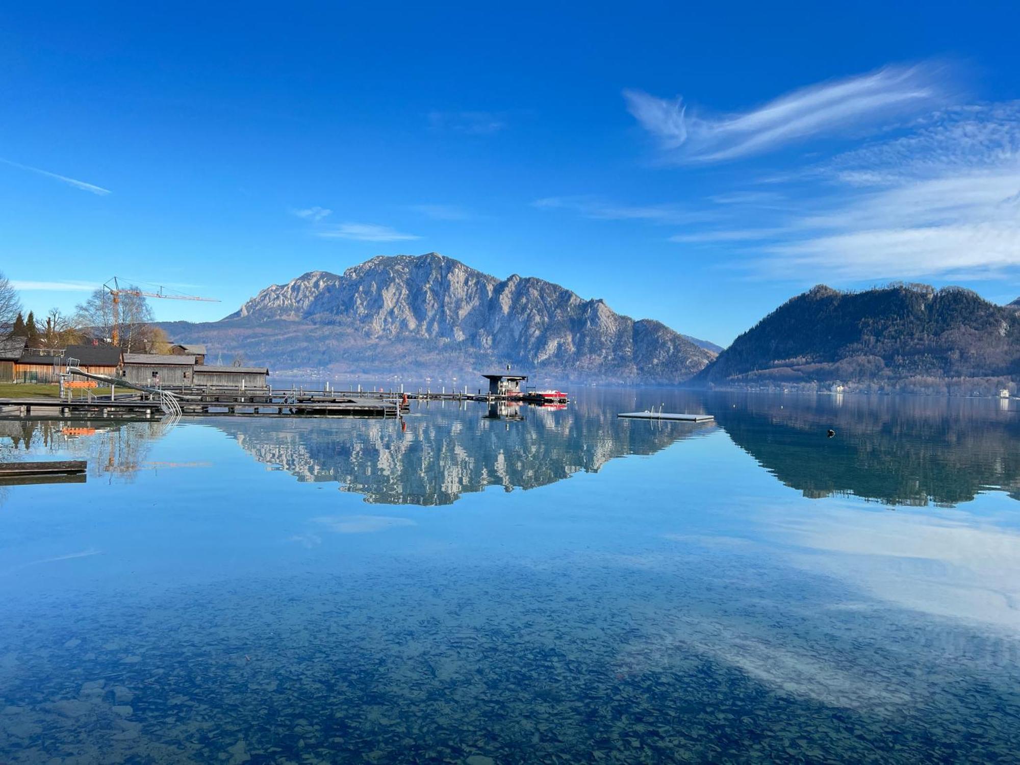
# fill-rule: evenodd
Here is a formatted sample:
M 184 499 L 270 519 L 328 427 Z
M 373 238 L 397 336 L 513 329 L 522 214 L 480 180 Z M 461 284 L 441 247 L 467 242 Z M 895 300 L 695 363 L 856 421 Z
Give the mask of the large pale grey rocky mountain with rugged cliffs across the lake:
M 274 371 L 478 372 L 511 364 L 540 378 L 678 382 L 715 353 L 602 300 L 512 275 L 499 279 L 437 253 L 372 258 L 342 274 L 273 285 L 224 319 L 164 328 Z M 215 358 L 215 356 L 213 357 Z

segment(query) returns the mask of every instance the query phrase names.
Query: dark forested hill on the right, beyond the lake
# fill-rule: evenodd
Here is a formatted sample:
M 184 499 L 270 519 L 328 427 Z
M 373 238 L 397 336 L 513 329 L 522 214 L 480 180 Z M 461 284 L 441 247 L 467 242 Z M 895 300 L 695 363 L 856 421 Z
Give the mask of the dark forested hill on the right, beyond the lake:
M 878 385 L 1020 374 L 1020 314 L 960 288 L 799 295 L 738 337 L 692 385 Z

